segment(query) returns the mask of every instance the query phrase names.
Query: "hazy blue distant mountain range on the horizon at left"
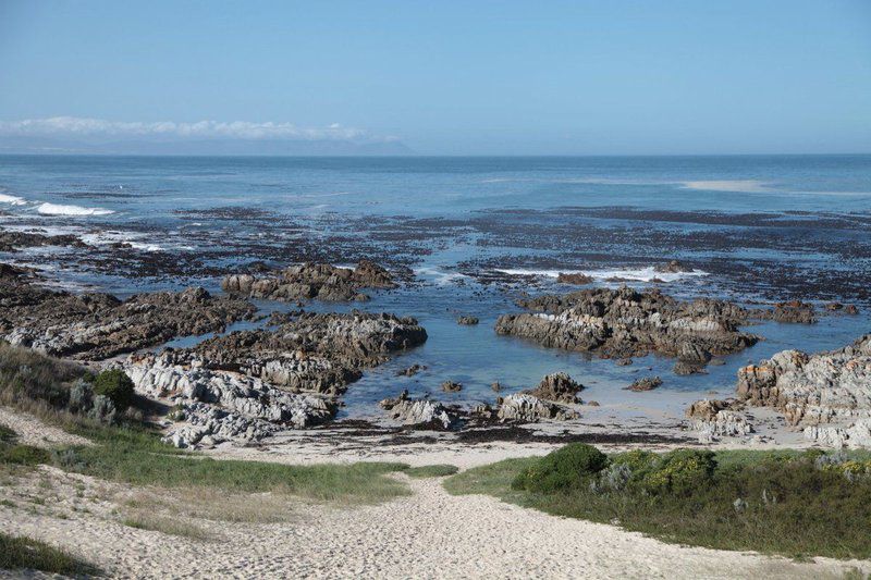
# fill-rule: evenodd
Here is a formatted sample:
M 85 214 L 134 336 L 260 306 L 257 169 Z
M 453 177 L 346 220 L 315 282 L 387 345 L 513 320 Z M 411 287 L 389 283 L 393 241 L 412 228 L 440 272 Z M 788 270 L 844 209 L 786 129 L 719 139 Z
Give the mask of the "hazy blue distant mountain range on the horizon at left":
M 410 156 L 397 140 L 174 139 L 76 141 L 52 137 L 0 136 L 0 153 L 143 156 Z

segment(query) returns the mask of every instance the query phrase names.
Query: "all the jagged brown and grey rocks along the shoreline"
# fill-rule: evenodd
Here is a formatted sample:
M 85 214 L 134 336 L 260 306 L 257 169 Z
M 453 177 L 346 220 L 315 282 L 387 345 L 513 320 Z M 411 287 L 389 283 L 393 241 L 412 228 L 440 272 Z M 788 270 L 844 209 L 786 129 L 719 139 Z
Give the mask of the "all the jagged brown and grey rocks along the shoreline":
M 662 270 L 678 268 L 684 267 L 670 262 Z M 102 366 L 123 369 L 137 393 L 170 409 L 162 419 L 165 439 L 181 447 L 259 442 L 289 429 L 331 423 L 349 385 L 428 338 L 409 317 L 359 310 L 310 312 L 299 307 L 266 317 L 248 301 L 357 303 L 368 299 L 361 292 L 366 288 L 398 287 L 390 271 L 367 260 L 353 269 L 312 262 L 278 270 L 257 266 L 226 275 L 221 282 L 224 295 L 191 287 L 122 300 L 106 293 L 51 289 L 40 282 L 28 269 L 0 268 L 0 338 L 61 358 L 105 361 Z M 580 276 L 566 282 L 588 283 Z M 760 309 L 711 298 L 679 300 L 657 287 L 627 286 L 523 297 L 517 305 L 527 311 L 499 317 L 496 335 L 588 353 L 621 367 L 633 366 L 633 358 L 665 357 L 675 361 L 677 375 L 704 373 L 708 365 L 720 363 L 721 357 L 761 338 L 741 326 L 756 321 L 812 324 L 821 316 L 803 301 Z M 855 307 L 833 303 L 822 313 L 855 312 Z M 455 320 L 470 328 L 479 321 L 470 314 Z M 225 333 L 241 321 L 254 328 Z M 201 338 L 184 348 L 159 348 L 186 336 Z M 679 429 L 696 432 L 702 442 L 724 437 L 764 442 L 757 434 L 752 409 L 765 407 L 781 414 L 786 427 L 801 431 L 809 442 L 869 445 L 869 344 L 864 337 L 831 353 L 789 350 L 745 367 L 738 372 L 736 398 L 690 405 Z M 128 356 L 119 358 L 122 355 Z M 426 369 L 416 363 L 395 374 L 412 378 Z M 662 382 L 659 377 L 639 377 L 627 388 L 643 394 Z M 444 396 L 463 391 L 457 381 L 444 385 L 449 385 Z M 581 400 L 584 388 L 560 372 L 545 375 L 532 388 L 494 396 L 492 404 L 462 406 L 403 392 L 383 399 L 381 407 L 387 421 L 422 432 L 582 425 L 587 417 L 601 415 L 598 403 Z

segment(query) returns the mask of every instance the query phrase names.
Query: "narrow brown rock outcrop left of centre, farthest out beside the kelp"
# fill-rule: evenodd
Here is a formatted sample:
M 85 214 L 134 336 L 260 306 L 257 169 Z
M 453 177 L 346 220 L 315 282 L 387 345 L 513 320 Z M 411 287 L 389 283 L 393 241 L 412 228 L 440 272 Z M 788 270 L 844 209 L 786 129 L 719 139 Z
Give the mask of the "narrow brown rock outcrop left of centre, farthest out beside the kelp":
M 221 282 L 221 288 L 234 296 L 283 301 L 367 300 L 369 297 L 359 292 L 361 288 L 394 287 L 390 273 L 369 260 L 360 260 L 353 270 L 306 262 L 272 275 L 232 274 Z

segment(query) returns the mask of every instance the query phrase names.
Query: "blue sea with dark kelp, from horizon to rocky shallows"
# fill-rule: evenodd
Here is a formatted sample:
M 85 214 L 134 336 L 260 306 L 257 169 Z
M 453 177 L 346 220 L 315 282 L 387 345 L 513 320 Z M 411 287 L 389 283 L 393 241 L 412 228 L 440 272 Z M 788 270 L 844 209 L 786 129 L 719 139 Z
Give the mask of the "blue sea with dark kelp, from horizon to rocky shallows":
M 557 370 L 588 386 L 585 398 L 641 396 L 657 406 L 731 392 L 748 359 L 839 347 L 871 330 L 869 156 L 0 157 L 0 211 L 5 229 L 72 232 L 94 245 L 0 259 L 121 295 L 191 283 L 216 289 L 222 271 L 254 260 L 368 257 L 404 272 L 409 286 L 354 306 L 415 316 L 430 338 L 355 384 L 345 397 L 352 416 L 403 387 L 491 400 L 493 381 L 511 392 Z M 112 254 L 114 242 L 132 247 Z M 861 313 L 813 326 L 761 324 L 752 332 L 765 341 L 702 377 L 675 377 L 672 361 L 654 357 L 616 367 L 492 330 L 500 313 L 517 309 L 518 293 L 568 291 L 555 285 L 559 271 L 590 272 L 609 285 L 618 274 L 645 287 L 653 264 L 673 258 L 696 269 L 661 276 L 668 277 L 663 289 L 678 296 L 839 299 L 859 304 Z M 461 313 L 481 323 L 459 326 Z M 394 377 L 414 362 L 429 369 Z M 666 381 L 655 394 L 622 391 L 638 373 Z M 464 391 L 442 394 L 447 379 Z

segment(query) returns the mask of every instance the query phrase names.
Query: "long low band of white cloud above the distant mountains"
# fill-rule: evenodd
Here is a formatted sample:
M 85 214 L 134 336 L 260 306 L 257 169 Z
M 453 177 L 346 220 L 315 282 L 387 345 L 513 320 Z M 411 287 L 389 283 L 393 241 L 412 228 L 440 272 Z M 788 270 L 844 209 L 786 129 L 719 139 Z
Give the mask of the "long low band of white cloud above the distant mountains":
M 52 116 L 0 121 L 0 135 L 26 137 L 167 138 L 167 139 L 302 139 L 390 141 L 367 131 L 338 123 L 326 127 L 299 127 L 292 123 L 248 121 L 128 122 L 78 116 Z

